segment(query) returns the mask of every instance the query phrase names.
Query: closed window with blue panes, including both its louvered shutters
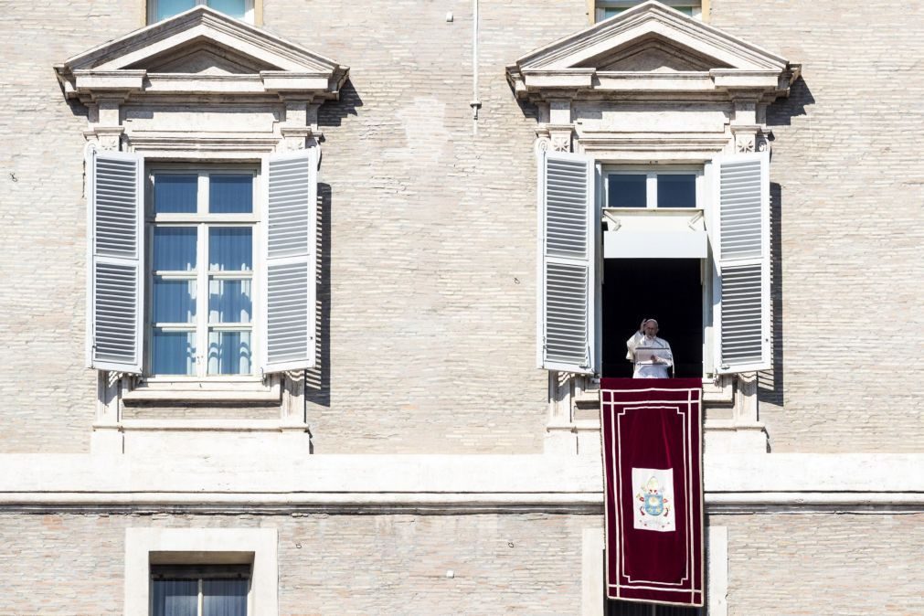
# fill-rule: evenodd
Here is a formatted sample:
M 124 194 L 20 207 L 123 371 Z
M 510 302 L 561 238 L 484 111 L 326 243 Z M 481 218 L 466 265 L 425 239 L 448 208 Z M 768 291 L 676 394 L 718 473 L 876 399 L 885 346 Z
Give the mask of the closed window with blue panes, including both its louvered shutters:
M 247 380 L 315 359 L 315 148 L 245 166 L 91 151 L 88 366 Z

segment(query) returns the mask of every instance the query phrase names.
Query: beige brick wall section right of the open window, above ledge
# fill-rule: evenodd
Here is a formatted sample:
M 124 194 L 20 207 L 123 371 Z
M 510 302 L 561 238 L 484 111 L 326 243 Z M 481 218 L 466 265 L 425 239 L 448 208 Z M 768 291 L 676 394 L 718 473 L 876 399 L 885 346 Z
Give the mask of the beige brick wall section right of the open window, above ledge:
M 777 452 L 924 443 L 924 6 L 714 0 L 712 24 L 804 65 L 769 114 L 780 185 Z M 781 394 L 782 392 L 782 394 Z

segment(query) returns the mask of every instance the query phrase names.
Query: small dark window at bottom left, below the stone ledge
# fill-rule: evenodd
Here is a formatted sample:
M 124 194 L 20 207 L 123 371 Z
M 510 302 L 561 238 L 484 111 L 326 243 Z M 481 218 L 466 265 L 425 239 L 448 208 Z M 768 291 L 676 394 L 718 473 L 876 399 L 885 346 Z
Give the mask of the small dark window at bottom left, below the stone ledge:
M 152 565 L 152 616 L 247 616 L 250 566 Z

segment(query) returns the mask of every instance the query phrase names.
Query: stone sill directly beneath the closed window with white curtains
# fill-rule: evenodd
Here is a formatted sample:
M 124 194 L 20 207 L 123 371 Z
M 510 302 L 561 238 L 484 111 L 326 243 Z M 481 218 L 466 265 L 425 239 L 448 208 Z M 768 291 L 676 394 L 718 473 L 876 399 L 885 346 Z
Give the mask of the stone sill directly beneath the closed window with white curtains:
M 151 377 L 142 379 L 122 394 L 126 403 L 279 403 L 280 380 L 276 376 L 263 381 L 253 377 L 228 377 L 209 380 Z

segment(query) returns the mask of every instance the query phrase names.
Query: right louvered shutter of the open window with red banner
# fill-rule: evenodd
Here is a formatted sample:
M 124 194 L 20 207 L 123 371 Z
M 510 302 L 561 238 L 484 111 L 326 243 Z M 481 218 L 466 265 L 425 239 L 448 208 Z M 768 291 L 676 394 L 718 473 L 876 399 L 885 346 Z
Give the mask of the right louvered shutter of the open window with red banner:
M 713 251 L 721 281 L 719 372 L 771 368 L 770 155 L 724 156 L 715 162 L 718 227 Z

